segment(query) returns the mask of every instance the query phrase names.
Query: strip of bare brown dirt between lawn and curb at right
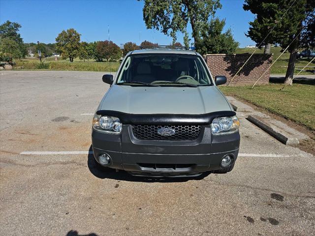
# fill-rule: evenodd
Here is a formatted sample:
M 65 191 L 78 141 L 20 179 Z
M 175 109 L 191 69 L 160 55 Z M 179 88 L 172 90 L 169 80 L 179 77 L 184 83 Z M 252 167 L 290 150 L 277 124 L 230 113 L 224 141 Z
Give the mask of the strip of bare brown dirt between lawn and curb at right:
M 259 111 L 259 112 L 263 112 L 263 113 L 267 114 L 268 116 L 270 116 L 271 118 L 274 118 L 274 119 L 277 119 L 281 122 L 284 122 L 287 126 L 293 128 L 293 129 L 296 129 L 297 131 L 304 133 L 307 136 L 309 136 L 310 140 L 302 140 L 302 141 L 300 141 L 299 145 L 296 145 L 294 147 L 300 148 L 303 151 L 306 151 L 308 153 L 315 155 L 315 130 L 310 130 L 309 128 L 305 127 L 304 125 L 297 124 L 290 119 L 287 119 L 287 118 L 278 116 L 276 114 L 273 114 L 262 107 L 258 107 L 256 105 L 253 105 L 252 103 L 244 100 L 241 97 L 238 97 L 237 95 L 234 95 L 234 97 L 236 97 L 237 100 L 245 103 L 246 105 L 249 105 L 254 110 Z

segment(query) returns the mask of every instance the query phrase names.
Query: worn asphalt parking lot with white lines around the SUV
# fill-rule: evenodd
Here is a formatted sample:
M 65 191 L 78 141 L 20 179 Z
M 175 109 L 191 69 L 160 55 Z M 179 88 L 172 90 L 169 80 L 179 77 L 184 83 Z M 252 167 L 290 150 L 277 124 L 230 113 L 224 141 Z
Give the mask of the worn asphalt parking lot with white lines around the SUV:
M 315 235 L 314 156 L 242 113 L 228 174 L 96 169 L 92 118 L 109 88 L 102 74 L 0 72 L 0 235 Z

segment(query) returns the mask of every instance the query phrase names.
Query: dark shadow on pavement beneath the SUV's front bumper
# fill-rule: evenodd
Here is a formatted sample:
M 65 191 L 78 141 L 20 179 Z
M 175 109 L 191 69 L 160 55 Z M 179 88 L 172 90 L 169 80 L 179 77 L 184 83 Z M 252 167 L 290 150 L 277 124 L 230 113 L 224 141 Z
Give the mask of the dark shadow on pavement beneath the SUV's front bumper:
M 89 149 L 89 153 L 92 153 L 92 146 Z M 94 159 L 93 154 L 88 154 L 88 167 L 90 172 L 97 178 L 109 178 L 115 180 L 124 180 L 130 182 L 187 182 L 189 180 L 201 180 L 211 174 L 211 172 L 205 172 L 197 177 L 137 177 L 128 174 L 126 171 L 111 168 L 99 168 Z

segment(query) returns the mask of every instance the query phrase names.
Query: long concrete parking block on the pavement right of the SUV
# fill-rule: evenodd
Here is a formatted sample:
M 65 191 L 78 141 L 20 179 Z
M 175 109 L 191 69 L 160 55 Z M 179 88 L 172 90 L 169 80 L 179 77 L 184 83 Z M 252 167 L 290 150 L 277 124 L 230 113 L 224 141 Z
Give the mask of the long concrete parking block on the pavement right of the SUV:
M 261 118 L 250 115 L 247 119 L 285 145 L 299 144 L 299 140 L 297 138 L 287 137 L 287 135 L 280 133 L 281 131 L 274 130 L 267 122 L 264 122 Z

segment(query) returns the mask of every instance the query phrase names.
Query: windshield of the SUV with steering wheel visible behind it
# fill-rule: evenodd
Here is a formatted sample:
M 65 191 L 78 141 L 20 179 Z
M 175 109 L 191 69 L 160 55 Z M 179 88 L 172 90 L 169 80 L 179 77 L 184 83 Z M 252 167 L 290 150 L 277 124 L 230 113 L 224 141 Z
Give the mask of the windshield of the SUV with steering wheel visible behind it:
M 136 83 L 138 82 L 138 83 Z M 207 86 L 211 81 L 199 57 L 179 54 L 130 55 L 124 61 L 117 84 L 158 86 Z

